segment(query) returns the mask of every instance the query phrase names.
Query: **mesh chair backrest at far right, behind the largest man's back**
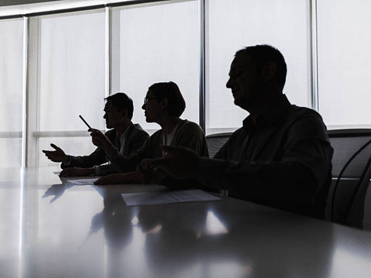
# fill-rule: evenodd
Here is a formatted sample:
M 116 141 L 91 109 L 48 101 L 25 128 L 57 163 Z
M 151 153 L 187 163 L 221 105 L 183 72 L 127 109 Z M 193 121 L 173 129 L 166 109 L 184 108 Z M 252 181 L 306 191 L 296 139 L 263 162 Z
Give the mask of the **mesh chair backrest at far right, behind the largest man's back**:
M 362 150 L 360 148 L 371 140 L 371 129 L 329 130 L 329 138 L 334 156 L 327 218 L 362 228 L 365 196 L 371 176 L 371 143 Z M 354 158 L 346 165 L 353 155 Z

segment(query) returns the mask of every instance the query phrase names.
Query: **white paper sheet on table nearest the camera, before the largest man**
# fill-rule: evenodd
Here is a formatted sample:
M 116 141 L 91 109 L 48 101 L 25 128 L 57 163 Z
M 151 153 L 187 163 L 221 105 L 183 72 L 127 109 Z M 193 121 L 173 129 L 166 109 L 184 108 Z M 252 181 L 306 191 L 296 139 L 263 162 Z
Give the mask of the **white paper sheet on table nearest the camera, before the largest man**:
M 220 200 L 220 198 L 198 189 L 185 191 L 122 193 L 121 195 L 127 206 Z

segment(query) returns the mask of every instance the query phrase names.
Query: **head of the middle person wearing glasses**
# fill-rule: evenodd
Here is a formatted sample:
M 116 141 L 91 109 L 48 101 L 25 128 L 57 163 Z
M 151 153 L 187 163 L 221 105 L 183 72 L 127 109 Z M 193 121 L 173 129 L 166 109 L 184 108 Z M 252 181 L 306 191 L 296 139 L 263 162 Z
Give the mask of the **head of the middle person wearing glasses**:
M 180 117 L 185 109 L 185 101 L 174 82 L 160 82 L 148 88 L 142 109 L 147 122 L 158 122 L 162 116 Z

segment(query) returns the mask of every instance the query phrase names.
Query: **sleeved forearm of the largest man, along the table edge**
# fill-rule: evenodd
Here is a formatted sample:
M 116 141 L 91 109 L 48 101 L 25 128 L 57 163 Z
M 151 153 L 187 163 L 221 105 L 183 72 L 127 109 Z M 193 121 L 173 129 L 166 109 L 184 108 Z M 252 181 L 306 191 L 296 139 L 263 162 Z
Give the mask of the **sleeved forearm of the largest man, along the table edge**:
M 197 179 L 240 198 L 310 202 L 318 190 L 314 173 L 299 162 L 233 162 L 201 158 Z

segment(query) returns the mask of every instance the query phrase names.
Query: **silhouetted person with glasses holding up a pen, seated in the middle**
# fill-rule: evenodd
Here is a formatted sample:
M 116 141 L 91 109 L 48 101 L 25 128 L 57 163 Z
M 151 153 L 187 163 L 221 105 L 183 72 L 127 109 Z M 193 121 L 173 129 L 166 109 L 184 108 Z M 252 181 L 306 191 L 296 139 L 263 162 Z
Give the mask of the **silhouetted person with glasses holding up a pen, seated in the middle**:
M 180 119 L 185 109 L 185 101 L 174 82 L 160 82 L 148 88 L 142 106 L 147 122 L 158 123 L 161 129 L 144 143 L 142 148 L 131 156 L 117 152 L 112 143 L 99 132 L 91 133 L 93 144 L 105 150 L 112 164 L 126 174 L 114 174 L 99 179 L 95 184 L 156 182 L 164 183 L 163 171 L 151 169 L 142 171 L 137 165 L 144 158 L 161 158 L 165 153 L 160 145 L 188 148 L 197 155 L 208 157 L 206 138 L 203 130 L 194 122 Z

